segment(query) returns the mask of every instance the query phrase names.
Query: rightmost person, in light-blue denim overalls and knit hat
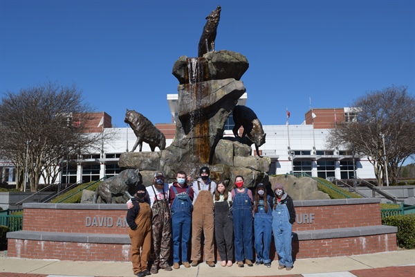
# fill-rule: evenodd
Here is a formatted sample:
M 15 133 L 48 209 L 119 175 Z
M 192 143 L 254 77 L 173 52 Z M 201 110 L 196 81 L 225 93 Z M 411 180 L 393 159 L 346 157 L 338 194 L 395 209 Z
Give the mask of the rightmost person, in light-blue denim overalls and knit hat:
M 273 233 L 275 249 L 279 256 L 278 269 L 293 269 L 291 254 L 291 238 L 295 222 L 295 208 L 293 199 L 284 193 L 282 184 L 274 185 Z

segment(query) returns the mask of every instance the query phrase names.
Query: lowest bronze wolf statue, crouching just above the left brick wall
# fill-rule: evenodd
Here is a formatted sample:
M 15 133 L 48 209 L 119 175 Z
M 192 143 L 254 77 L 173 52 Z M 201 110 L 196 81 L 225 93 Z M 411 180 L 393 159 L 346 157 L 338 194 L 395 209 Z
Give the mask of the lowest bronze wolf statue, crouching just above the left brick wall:
M 113 197 L 122 197 L 123 203 L 127 203 L 132 195 L 136 194 L 136 186 L 142 184 L 140 170 L 127 169 L 119 175 L 108 178 L 98 186 L 93 195 L 93 203 L 97 203 L 98 197 L 102 202 L 111 204 Z

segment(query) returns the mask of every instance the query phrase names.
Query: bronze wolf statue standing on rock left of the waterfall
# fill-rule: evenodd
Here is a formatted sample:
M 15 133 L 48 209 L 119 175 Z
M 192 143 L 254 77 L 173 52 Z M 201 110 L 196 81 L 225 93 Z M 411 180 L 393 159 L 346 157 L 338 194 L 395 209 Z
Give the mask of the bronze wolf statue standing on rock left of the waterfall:
M 160 150 L 166 149 L 164 134 L 147 117 L 139 114 L 137 111 L 127 109 L 124 122 L 130 125 L 137 136 L 136 144 L 134 144 L 131 152 L 134 152 L 138 145 L 140 145 L 139 151 L 141 152 L 143 141 L 150 145 L 151 152 L 154 152 L 156 147 Z

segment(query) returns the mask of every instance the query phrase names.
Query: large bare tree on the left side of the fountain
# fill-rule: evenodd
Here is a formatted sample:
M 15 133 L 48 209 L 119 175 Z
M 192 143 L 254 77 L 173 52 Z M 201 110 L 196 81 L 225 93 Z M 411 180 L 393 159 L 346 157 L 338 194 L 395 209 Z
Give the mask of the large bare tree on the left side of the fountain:
M 75 84 L 53 82 L 7 91 L 0 103 L 0 149 L 2 159 L 17 170 L 17 188 L 23 190 L 28 172 L 30 190 L 36 191 L 43 175 L 54 182 L 63 157 L 86 149 L 100 149 L 104 132 L 89 132 L 91 107 Z M 27 166 L 26 166 L 27 163 Z

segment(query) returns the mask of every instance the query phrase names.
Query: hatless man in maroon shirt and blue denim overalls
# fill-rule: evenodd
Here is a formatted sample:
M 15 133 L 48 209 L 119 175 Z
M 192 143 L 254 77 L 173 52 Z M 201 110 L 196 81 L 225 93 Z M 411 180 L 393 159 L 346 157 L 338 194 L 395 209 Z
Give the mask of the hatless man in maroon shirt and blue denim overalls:
M 187 260 L 187 249 L 190 240 L 190 227 L 192 226 L 193 190 L 187 186 L 185 181 L 186 173 L 178 171 L 177 181 L 173 183 L 169 190 L 169 204 L 172 210 L 174 269 L 180 268 L 178 265 L 180 260 L 185 267 L 190 267 Z

